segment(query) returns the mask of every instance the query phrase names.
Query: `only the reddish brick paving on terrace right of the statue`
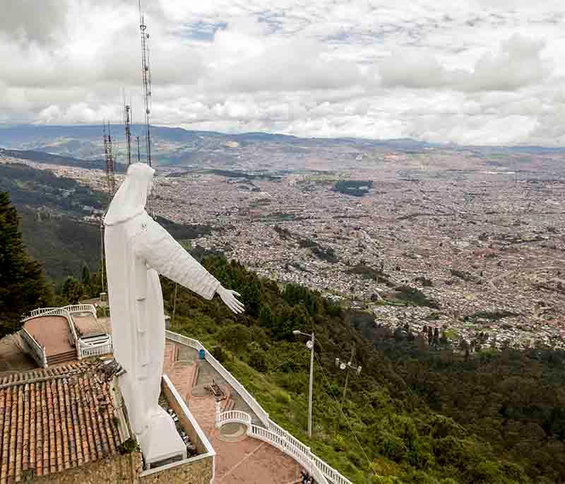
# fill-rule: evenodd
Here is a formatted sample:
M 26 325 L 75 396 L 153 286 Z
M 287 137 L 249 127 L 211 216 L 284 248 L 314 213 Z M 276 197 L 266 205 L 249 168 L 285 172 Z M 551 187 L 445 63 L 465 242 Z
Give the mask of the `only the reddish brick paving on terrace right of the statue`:
M 180 348 L 180 350 L 179 350 Z M 196 350 L 194 350 L 196 353 Z M 184 361 L 179 360 L 179 354 Z M 191 384 L 196 371 L 196 358 L 186 358 L 186 347 L 167 341 L 163 372 L 171 379 L 216 451 L 215 483 L 218 484 L 289 484 L 296 483 L 300 466 L 289 456 L 266 442 L 244 437 L 237 442 L 220 439 L 215 429 L 213 396 L 191 396 Z M 208 370 L 208 369 L 207 369 Z M 207 374 L 209 374 L 207 372 Z M 215 379 L 223 382 L 219 375 Z M 201 384 L 201 377 L 198 377 Z M 234 397 L 237 394 L 228 388 Z

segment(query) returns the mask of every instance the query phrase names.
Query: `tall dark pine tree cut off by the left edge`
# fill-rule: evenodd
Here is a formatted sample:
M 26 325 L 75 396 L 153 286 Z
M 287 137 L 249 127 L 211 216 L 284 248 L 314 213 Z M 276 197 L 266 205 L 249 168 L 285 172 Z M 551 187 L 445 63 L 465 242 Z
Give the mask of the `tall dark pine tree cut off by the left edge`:
M 52 300 L 42 266 L 25 252 L 18 222 L 8 194 L 0 192 L 0 337 L 18 331 L 24 314 Z

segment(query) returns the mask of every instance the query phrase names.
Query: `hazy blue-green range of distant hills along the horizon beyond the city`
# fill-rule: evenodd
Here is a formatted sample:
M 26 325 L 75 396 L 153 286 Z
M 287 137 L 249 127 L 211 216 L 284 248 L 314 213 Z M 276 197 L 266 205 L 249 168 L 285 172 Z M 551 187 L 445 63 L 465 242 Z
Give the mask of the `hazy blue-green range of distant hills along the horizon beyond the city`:
M 143 139 L 145 126 L 133 124 L 133 136 Z M 125 164 L 126 148 L 124 126 L 110 126 L 114 138 L 114 158 Z M 207 169 L 243 170 L 302 170 L 305 160 L 326 162 L 328 170 L 355 169 L 369 156 L 375 160 L 384 153 L 421 154 L 429 150 L 472 151 L 480 158 L 489 155 L 525 156 L 565 153 L 565 148 L 540 146 L 456 146 L 427 143 L 411 138 L 376 140 L 367 138 L 299 138 L 285 134 L 241 133 L 225 134 L 217 131 L 191 131 L 167 126 L 152 126 L 153 158 L 155 165 Z M 145 160 L 141 143 L 141 160 Z M 31 152 L 59 155 L 61 158 L 44 158 L 42 163 L 59 163 L 69 166 L 102 169 L 102 126 L 100 125 L 0 125 L 0 146 L 10 150 L 23 150 L 19 156 L 40 158 Z M 135 138 L 132 145 L 133 160 L 137 159 Z M 347 162 L 344 165 L 343 162 Z M 121 171 L 121 170 L 119 170 Z

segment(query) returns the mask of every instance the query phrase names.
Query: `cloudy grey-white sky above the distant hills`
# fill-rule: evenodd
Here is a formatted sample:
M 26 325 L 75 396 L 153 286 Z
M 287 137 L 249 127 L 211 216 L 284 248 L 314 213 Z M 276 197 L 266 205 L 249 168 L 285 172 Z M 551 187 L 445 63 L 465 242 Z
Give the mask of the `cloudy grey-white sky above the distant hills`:
M 565 146 L 563 0 L 143 0 L 152 122 Z M 137 0 L 0 0 L 0 123 L 141 121 Z

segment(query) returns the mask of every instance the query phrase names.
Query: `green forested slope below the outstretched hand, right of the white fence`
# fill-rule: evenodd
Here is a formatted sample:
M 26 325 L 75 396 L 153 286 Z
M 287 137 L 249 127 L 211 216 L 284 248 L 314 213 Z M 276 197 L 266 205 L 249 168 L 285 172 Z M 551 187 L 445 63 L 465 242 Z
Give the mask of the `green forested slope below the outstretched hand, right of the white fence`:
M 465 361 L 415 341 L 373 343 L 319 294 L 259 280 L 215 256 L 204 264 L 242 293 L 235 316 L 179 288 L 174 331 L 203 341 L 271 418 L 354 483 L 511 484 L 565 482 L 564 352 L 542 348 Z M 172 312 L 174 284 L 163 280 Z M 314 437 L 308 439 L 309 351 L 293 329 L 315 331 Z M 359 377 L 336 357 L 352 345 Z

